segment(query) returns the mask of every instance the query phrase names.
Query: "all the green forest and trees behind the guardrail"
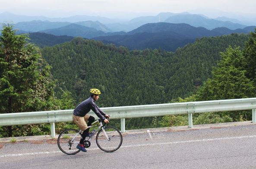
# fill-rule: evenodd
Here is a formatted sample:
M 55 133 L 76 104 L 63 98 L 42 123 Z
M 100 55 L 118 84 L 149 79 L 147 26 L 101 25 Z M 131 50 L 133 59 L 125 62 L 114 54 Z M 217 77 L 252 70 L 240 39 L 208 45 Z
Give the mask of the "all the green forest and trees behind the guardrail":
M 256 96 L 256 31 L 197 39 L 175 52 L 128 50 L 74 38 L 36 47 L 4 25 L 0 37 L 0 113 L 74 109 L 103 91 L 100 107 Z M 251 120 L 251 112 L 202 113 L 194 124 Z M 56 124 L 57 132 L 73 125 Z M 111 125 L 120 128 L 120 120 Z M 187 125 L 187 116 L 126 119 L 126 129 Z M 0 127 L 0 137 L 44 135 L 49 124 Z

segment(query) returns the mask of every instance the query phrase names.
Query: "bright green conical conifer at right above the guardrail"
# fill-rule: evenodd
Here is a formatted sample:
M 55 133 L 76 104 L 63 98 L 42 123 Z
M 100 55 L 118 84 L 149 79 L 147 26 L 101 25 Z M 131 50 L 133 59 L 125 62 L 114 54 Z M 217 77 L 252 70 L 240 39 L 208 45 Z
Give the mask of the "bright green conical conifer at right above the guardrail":
M 221 62 L 198 93 L 198 100 L 247 98 L 256 95 L 253 81 L 246 77 L 245 57 L 237 47 L 221 53 Z

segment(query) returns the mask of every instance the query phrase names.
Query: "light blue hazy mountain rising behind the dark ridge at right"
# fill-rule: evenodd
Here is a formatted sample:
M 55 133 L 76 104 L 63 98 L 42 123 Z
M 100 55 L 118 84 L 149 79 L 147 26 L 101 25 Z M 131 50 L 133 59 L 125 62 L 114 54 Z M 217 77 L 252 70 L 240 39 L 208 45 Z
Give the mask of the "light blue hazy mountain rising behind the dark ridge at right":
M 199 15 L 176 15 L 171 16 L 165 20 L 169 23 L 186 23 L 195 27 L 204 27 L 207 29 L 214 29 L 218 27 L 226 27 L 229 29 L 245 28 L 246 25 L 232 23 L 230 21 L 219 21 L 215 19 L 207 19 Z

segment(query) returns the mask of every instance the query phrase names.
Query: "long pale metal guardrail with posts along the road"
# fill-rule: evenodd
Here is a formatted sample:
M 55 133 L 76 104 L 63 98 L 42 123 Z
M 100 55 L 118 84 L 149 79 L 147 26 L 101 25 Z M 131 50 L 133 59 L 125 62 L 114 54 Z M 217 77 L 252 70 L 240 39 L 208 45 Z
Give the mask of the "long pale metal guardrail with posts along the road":
M 193 127 L 193 113 L 252 110 L 256 123 L 256 97 L 246 99 L 211 100 L 184 103 L 152 104 L 101 108 L 111 119 L 121 119 L 121 131 L 125 132 L 125 119 L 136 117 L 188 114 L 189 127 Z M 72 121 L 73 110 L 54 110 L 25 113 L 0 114 L 0 126 L 51 123 L 51 137 L 55 137 L 55 122 Z M 95 113 L 89 112 L 97 118 Z

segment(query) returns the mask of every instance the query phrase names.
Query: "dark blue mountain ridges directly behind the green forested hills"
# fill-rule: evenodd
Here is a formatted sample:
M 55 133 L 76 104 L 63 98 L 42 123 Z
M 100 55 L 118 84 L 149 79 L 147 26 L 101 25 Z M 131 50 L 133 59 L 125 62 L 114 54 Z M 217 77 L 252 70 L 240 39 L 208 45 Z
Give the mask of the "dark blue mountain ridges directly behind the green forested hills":
M 93 38 L 94 40 L 102 41 L 103 43 L 108 44 L 115 44 L 117 46 L 125 46 L 130 50 L 161 48 L 162 50 L 174 52 L 178 47 L 183 47 L 188 43 L 194 42 L 196 38 L 220 36 L 223 34 L 232 33 L 248 34 L 250 31 L 254 31 L 254 28 L 256 27 L 250 26 L 243 29 L 231 30 L 222 27 L 208 30 L 202 27 L 196 28 L 188 24 L 171 24 L 159 22 L 142 25 L 141 27 L 127 33 L 105 33 L 103 31 L 97 31 L 93 28 L 88 28 L 92 30 L 91 34 L 88 35 L 86 32 L 83 32 L 83 30 L 85 30 L 84 26 L 71 24 L 62 28 L 44 31 L 45 33 L 30 33 L 30 38 L 31 41 L 38 46 L 44 47 L 70 41 L 75 36 L 92 36 L 93 34 L 95 35 L 99 33 L 103 34 L 103 36 L 95 37 Z M 50 35 L 48 33 L 62 36 Z M 63 36 L 65 34 L 69 36 Z

